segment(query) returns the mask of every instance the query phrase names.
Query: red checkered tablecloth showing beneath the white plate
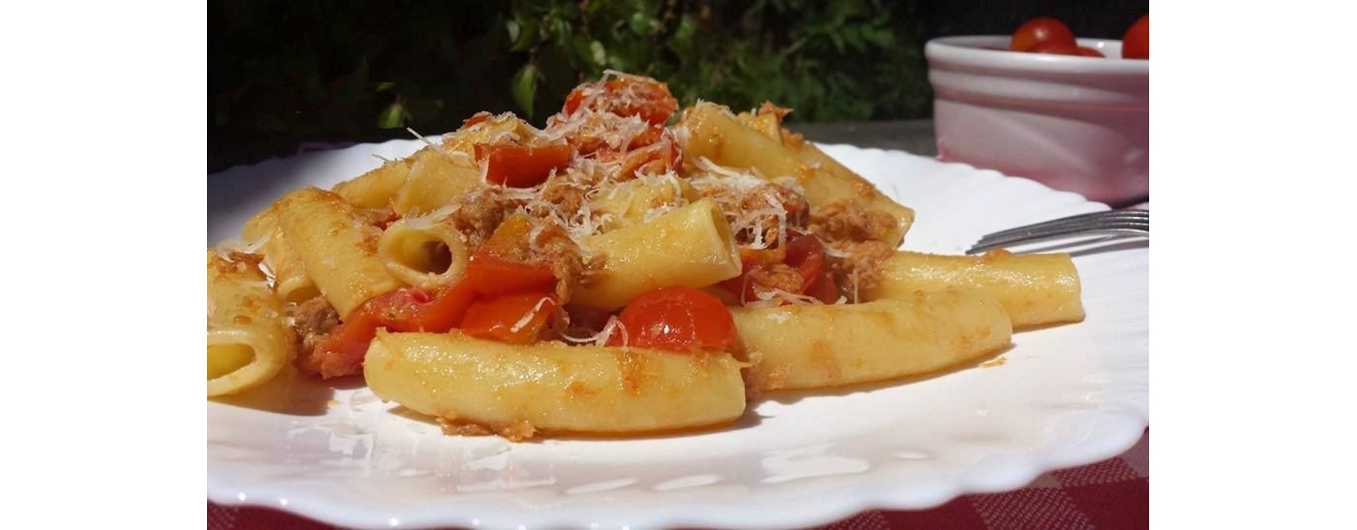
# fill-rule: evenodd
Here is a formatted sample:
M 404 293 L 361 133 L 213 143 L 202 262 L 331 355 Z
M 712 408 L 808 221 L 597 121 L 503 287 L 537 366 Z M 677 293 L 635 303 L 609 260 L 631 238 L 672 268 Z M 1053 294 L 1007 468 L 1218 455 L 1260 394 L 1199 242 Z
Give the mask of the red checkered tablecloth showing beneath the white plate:
M 1120 457 L 1037 477 L 1026 488 L 966 495 L 924 511 L 873 510 L 824 530 L 1145 529 L 1149 527 L 1149 430 Z M 271 508 L 208 503 L 208 530 L 328 530 Z

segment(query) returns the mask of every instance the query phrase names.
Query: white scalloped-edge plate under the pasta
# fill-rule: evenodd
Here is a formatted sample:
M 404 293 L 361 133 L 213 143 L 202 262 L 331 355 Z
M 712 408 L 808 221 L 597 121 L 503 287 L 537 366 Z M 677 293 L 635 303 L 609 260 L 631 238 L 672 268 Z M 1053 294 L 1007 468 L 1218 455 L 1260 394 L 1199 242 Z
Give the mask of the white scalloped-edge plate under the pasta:
M 284 191 L 328 187 L 417 141 L 212 175 L 208 243 Z M 825 150 L 917 211 L 905 248 L 1101 203 L 904 152 Z M 208 499 L 364 527 L 790 527 L 963 493 L 1114 457 L 1149 422 L 1149 251 L 1075 258 L 1087 320 L 1014 336 L 1001 366 L 764 400 L 734 428 L 628 441 L 445 436 L 365 388 L 303 385 L 288 407 L 208 403 Z

